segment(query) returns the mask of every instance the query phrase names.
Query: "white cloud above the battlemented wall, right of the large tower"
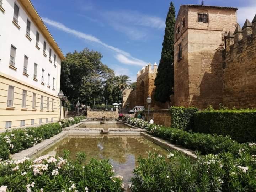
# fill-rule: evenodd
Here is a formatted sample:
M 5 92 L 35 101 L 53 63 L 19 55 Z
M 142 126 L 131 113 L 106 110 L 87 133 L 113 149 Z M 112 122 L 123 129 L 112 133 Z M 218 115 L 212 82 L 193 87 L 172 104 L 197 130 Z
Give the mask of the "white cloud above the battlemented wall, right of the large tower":
M 240 7 L 237 11 L 238 23 L 242 27 L 246 19 L 252 22 L 256 14 L 256 3 L 250 7 Z

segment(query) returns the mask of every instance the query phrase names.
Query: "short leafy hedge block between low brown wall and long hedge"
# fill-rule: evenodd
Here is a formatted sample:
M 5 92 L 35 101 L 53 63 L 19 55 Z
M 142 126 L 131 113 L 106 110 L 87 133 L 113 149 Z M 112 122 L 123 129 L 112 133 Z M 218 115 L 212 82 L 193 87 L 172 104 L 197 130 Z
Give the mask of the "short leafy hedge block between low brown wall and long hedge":
M 171 126 L 177 129 L 190 130 L 193 126 L 193 114 L 198 111 L 198 108 L 190 107 L 171 107 Z

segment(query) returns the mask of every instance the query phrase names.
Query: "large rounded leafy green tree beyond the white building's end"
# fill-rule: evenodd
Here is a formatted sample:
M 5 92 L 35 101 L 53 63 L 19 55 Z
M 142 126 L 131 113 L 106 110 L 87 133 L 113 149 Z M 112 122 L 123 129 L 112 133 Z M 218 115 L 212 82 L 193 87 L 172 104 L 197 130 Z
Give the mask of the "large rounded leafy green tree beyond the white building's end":
M 81 52 L 66 54 L 62 62 L 60 90 L 71 103 L 92 103 L 102 96 L 106 79 L 114 76 L 114 71 L 101 62 L 102 54 L 85 48 Z

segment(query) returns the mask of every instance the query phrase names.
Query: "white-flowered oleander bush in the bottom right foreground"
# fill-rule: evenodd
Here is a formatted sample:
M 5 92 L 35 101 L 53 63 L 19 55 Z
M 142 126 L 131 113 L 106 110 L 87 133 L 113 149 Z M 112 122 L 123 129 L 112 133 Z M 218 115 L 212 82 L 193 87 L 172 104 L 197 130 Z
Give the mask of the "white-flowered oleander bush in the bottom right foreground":
M 238 159 L 230 153 L 208 154 L 192 161 L 177 151 L 168 160 L 149 153 L 148 158 L 137 160 L 132 191 L 255 191 L 256 157 L 239 155 Z

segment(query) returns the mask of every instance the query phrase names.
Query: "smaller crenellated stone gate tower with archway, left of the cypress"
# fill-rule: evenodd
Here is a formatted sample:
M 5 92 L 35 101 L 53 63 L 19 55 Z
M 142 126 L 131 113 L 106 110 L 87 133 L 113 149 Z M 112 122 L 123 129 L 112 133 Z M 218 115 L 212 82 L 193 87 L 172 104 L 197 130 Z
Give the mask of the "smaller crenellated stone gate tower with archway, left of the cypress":
M 147 108 L 146 98 L 152 98 L 151 107 L 154 107 L 154 91 L 155 78 L 157 74 L 158 65 L 154 63 L 153 69 L 151 63 L 148 63 L 137 73 L 137 87 L 136 87 L 136 105 L 143 105 Z

